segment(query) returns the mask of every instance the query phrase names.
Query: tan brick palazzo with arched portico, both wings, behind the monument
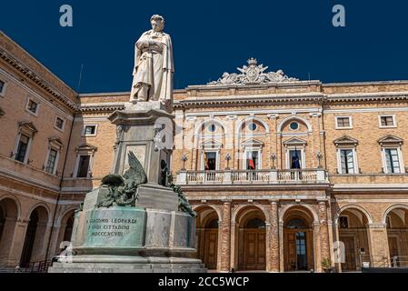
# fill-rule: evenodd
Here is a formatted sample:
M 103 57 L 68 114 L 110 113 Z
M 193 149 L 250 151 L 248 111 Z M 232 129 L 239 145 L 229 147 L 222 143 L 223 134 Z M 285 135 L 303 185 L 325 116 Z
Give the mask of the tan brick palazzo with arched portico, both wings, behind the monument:
M 69 240 L 75 208 L 113 170 L 107 117 L 130 93 L 77 95 L 0 36 L 0 266 L 15 266 Z M 171 171 L 198 214 L 197 256 L 222 272 L 406 266 L 408 82 L 267 69 L 251 59 L 174 91 Z

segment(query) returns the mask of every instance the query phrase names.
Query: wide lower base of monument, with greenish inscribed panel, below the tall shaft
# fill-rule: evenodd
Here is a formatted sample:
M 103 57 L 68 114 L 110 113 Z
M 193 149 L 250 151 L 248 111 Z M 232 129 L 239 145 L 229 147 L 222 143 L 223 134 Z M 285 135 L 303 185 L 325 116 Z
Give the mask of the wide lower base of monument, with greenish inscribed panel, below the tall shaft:
M 49 273 L 205 273 L 193 258 L 195 218 L 177 210 L 173 190 L 148 184 L 139 190 L 135 206 L 109 208 L 96 207 L 105 187 L 88 193 L 75 214 L 72 254 L 58 256 Z

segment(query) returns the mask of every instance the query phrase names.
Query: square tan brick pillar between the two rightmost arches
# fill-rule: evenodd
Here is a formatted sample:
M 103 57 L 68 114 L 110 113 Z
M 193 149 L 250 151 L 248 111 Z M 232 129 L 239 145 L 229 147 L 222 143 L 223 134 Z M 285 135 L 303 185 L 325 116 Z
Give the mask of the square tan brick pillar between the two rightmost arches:
M 390 249 L 386 224 L 369 224 L 367 226 L 368 245 L 370 246 L 371 266 L 391 266 Z

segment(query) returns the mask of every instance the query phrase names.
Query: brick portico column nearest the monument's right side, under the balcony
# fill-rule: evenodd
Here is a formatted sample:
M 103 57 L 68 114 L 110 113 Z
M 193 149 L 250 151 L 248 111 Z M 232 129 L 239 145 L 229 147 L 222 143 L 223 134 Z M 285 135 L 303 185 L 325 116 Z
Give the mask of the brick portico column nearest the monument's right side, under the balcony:
M 231 262 L 231 201 L 224 201 L 223 218 L 220 226 L 220 272 L 229 272 Z

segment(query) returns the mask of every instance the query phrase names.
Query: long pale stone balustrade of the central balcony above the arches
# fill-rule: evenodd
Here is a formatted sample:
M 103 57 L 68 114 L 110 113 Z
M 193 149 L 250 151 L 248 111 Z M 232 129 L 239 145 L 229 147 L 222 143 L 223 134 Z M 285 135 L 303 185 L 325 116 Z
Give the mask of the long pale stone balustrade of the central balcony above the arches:
M 324 169 L 182 171 L 178 185 L 251 185 L 329 183 Z

